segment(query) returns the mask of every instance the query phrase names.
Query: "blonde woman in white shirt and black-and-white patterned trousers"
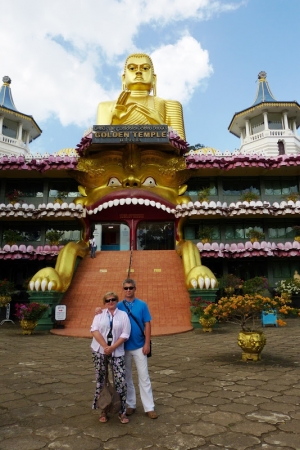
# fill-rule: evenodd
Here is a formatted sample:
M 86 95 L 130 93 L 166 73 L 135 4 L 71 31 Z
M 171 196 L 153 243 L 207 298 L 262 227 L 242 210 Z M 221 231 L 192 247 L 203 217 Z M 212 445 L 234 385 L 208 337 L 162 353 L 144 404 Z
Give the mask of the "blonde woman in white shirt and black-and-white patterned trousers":
M 125 352 L 124 342 L 129 338 L 131 327 L 128 315 L 117 308 L 118 296 L 114 292 L 107 292 L 103 297 L 106 306 L 102 314 L 95 316 L 91 333 L 93 335 L 92 354 L 96 371 L 96 392 L 93 409 L 97 409 L 97 401 L 100 391 L 105 383 L 107 359 L 112 367 L 115 387 L 121 398 L 121 410 L 119 419 L 121 423 L 128 423 L 126 417 L 126 394 L 125 382 Z M 101 411 L 99 421 L 107 422 L 107 412 Z

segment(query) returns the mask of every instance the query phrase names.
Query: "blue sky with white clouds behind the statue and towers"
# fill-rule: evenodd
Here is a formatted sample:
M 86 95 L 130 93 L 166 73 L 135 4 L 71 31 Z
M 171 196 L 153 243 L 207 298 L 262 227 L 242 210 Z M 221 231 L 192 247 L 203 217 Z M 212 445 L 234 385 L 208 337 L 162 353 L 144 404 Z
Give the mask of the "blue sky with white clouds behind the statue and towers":
M 299 0 L 1 3 L 0 75 L 43 130 L 32 152 L 75 147 L 135 51 L 152 56 L 158 96 L 183 104 L 191 145 L 239 148 L 228 125 L 253 103 L 261 70 L 277 100 L 300 102 Z

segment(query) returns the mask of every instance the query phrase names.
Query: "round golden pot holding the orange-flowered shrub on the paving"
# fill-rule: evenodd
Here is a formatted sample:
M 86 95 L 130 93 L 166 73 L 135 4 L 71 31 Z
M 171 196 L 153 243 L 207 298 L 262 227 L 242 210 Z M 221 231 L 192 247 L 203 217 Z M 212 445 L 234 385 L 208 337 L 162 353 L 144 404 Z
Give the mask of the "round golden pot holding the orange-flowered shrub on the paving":
M 241 331 L 238 345 L 243 350 L 242 360 L 259 361 L 266 342 L 266 336 L 262 331 Z

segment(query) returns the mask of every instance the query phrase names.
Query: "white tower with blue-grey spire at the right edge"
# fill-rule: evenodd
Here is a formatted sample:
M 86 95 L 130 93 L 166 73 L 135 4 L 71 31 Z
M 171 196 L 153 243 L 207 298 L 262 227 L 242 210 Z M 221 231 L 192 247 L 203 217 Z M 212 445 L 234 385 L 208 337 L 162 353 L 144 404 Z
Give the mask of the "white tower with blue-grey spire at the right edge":
M 296 101 L 277 101 L 266 78 L 266 72 L 258 74 L 253 105 L 235 113 L 228 129 L 241 139 L 241 153 L 263 153 L 265 156 L 298 154 L 300 106 Z

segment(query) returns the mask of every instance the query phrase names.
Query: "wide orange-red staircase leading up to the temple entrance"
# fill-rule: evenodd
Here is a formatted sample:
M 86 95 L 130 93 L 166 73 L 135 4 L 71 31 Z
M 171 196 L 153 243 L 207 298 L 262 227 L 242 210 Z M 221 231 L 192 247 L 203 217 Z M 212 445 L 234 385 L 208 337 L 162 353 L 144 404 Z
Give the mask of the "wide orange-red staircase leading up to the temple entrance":
M 97 252 L 95 259 L 86 256 L 62 301 L 67 306 L 65 328 L 51 333 L 91 337 L 90 325 L 103 295 L 115 291 L 122 300 L 129 259 L 129 251 Z M 136 296 L 149 305 L 153 336 L 192 329 L 182 261 L 175 250 L 133 251 L 130 276 L 137 284 Z

